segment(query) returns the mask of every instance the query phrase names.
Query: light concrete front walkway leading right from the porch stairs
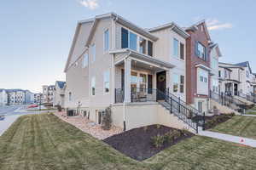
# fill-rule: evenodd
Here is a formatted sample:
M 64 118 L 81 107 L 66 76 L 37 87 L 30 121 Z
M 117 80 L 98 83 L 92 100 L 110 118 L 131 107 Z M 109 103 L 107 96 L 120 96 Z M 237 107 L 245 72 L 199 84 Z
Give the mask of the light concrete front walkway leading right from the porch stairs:
M 248 146 L 256 147 L 256 140 L 254 139 L 247 139 L 244 137 L 233 136 L 233 135 L 224 134 L 224 133 L 215 133 L 207 130 L 203 131 L 202 129 L 199 129 L 198 134 L 201 136 L 207 136 L 214 139 L 221 139 L 228 142 L 234 142 L 236 144 L 245 144 Z

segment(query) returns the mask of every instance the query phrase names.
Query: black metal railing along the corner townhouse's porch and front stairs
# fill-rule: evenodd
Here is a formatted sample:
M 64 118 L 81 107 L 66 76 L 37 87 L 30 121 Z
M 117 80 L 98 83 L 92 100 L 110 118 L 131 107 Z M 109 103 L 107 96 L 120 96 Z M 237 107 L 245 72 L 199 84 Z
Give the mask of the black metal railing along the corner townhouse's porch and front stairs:
M 115 89 L 115 102 L 124 102 L 125 92 L 123 89 Z M 203 113 L 191 105 L 187 105 L 182 99 L 166 90 L 162 92 L 153 88 L 131 88 L 131 102 L 157 101 L 170 113 L 173 113 L 181 121 L 185 122 L 198 132 L 198 126 L 202 126 Z

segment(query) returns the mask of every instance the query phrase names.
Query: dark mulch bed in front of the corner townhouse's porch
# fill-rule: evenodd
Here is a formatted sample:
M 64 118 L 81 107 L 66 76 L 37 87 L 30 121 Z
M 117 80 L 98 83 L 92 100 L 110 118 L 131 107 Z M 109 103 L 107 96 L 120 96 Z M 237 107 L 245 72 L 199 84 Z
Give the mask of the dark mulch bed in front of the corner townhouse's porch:
M 162 125 L 160 128 L 157 128 L 156 125 L 151 125 L 148 127 L 134 128 L 124 133 L 113 135 L 108 139 L 104 139 L 103 141 L 111 145 L 114 149 L 119 150 L 126 156 L 130 156 L 138 161 L 143 161 L 151 156 L 154 156 L 161 150 L 164 150 L 173 144 L 177 144 L 183 139 L 194 136 L 193 133 L 189 133 L 189 135 L 186 136 L 182 135 L 178 139 L 174 140 L 173 143 L 165 143 L 160 148 L 155 148 L 151 143 L 152 137 L 157 136 L 158 134 L 164 135 L 165 133 L 173 130 L 175 130 L 175 128 Z

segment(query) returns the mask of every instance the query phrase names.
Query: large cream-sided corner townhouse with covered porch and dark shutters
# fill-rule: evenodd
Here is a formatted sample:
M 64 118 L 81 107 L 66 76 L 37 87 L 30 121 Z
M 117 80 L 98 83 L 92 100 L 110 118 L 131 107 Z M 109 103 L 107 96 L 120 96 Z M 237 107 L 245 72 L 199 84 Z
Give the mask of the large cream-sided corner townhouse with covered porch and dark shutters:
M 186 38 L 174 23 L 145 30 L 113 13 L 80 21 L 65 67 L 65 108 L 101 124 L 111 105 L 113 124 L 125 129 L 157 123 L 195 130 L 178 116 L 196 111 L 185 104 Z

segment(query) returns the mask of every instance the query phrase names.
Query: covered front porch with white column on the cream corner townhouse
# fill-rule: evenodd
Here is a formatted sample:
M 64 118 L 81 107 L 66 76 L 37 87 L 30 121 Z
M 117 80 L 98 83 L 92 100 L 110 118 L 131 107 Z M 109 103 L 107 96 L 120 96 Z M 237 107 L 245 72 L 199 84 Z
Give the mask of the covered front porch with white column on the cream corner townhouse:
M 111 53 L 115 65 L 115 103 L 164 99 L 174 65 L 131 49 Z

